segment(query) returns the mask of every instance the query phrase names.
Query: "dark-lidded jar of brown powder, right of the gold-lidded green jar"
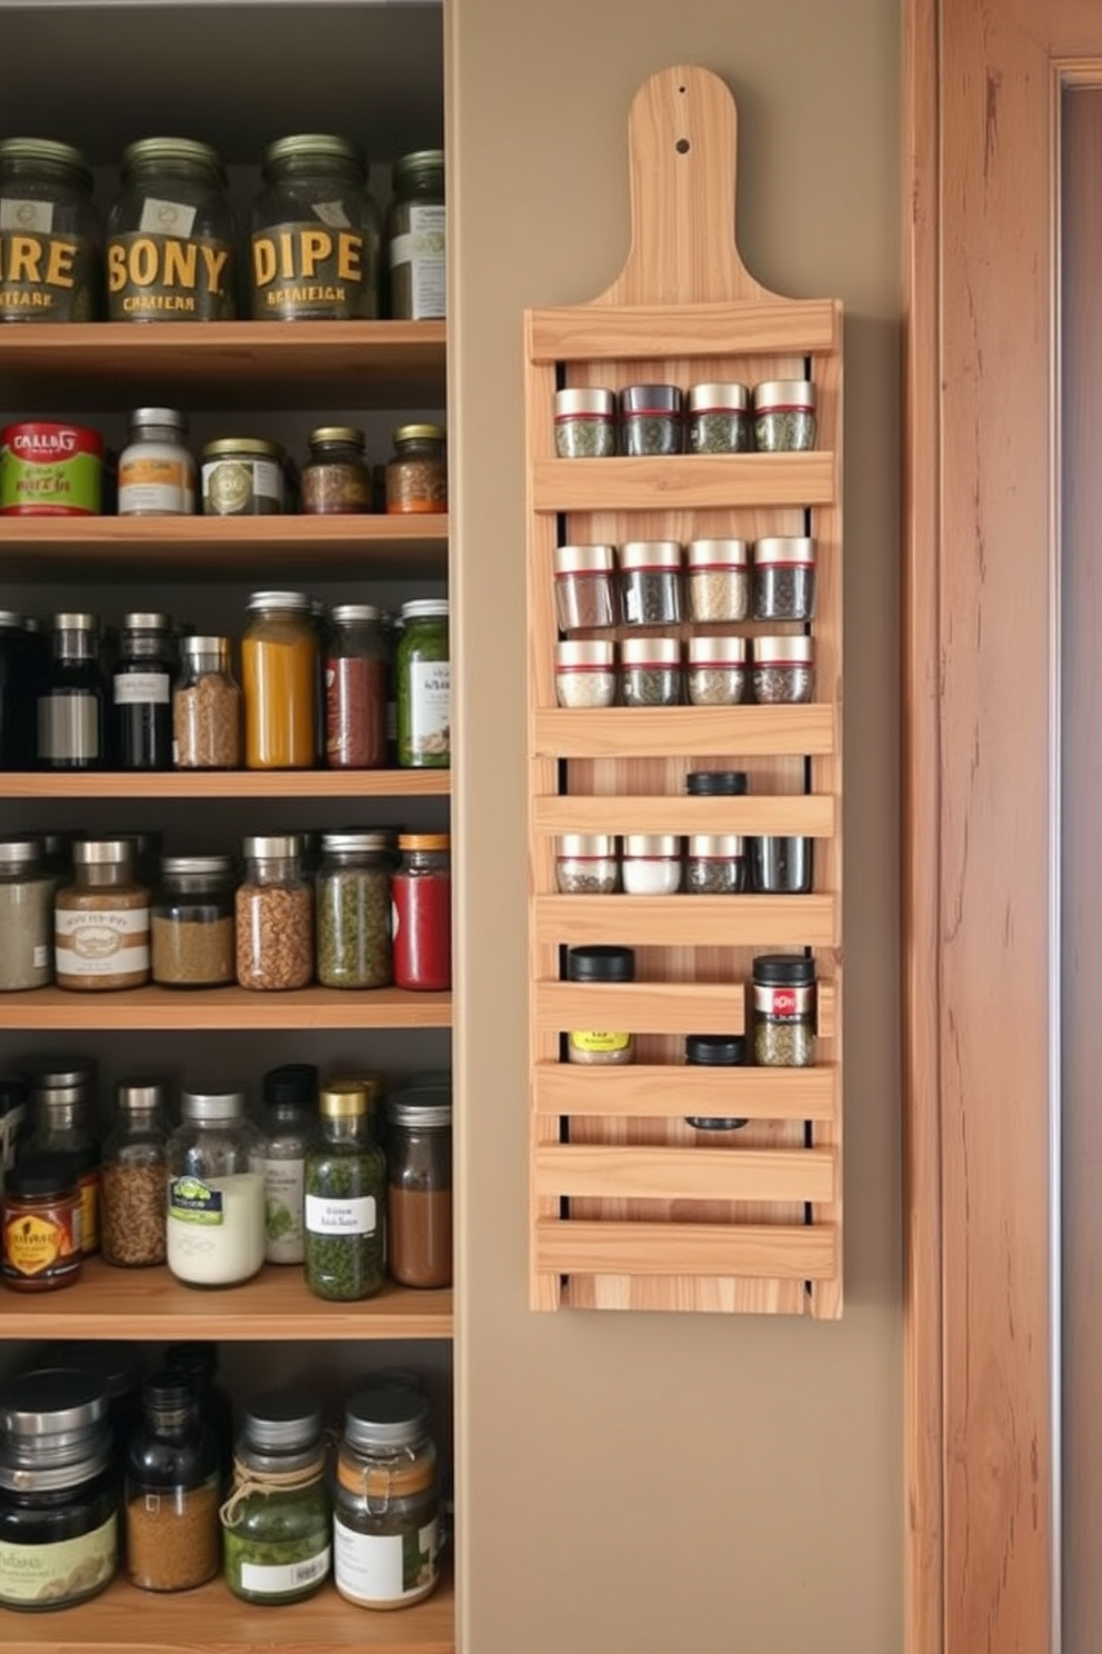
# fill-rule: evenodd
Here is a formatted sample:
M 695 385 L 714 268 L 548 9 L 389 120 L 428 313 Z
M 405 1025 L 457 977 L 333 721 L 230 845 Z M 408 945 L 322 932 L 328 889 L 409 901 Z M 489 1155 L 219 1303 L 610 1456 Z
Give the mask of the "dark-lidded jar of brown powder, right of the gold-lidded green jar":
M 387 1103 L 387 1254 L 403 1287 L 451 1285 L 451 1092 L 410 1087 Z

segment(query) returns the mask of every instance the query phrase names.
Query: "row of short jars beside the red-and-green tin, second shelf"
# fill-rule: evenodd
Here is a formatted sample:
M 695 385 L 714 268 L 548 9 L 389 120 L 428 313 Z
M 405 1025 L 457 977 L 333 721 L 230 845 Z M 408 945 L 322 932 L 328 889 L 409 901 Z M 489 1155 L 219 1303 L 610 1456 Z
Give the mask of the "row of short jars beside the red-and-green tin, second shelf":
M 101 432 L 59 420 L 23 420 L 0 430 L 0 516 L 392 516 L 448 509 L 444 430 L 395 427 L 393 453 L 368 465 L 354 425 L 319 425 L 299 470 L 268 437 L 218 437 L 197 465 L 180 409 L 134 409 L 127 443 L 114 455 Z

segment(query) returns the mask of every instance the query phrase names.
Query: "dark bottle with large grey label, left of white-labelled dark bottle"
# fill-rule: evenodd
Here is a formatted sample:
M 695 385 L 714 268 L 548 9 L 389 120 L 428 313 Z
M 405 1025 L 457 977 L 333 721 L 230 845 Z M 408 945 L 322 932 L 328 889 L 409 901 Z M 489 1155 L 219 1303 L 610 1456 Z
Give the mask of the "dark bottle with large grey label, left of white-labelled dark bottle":
M 102 769 L 107 762 L 99 620 L 56 614 L 50 668 L 38 696 L 38 761 L 45 769 Z

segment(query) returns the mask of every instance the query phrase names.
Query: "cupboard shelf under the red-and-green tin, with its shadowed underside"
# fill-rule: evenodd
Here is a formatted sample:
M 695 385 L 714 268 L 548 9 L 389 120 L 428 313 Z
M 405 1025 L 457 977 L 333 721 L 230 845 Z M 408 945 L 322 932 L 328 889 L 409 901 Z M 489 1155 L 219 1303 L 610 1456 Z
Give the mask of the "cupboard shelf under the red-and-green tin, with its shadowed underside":
M 18 332 L 17 327 L 10 329 Z M 0 332 L 2 341 L 2 332 Z M 55 581 L 236 581 L 292 569 L 443 579 L 448 518 L 0 518 L 0 577 Z

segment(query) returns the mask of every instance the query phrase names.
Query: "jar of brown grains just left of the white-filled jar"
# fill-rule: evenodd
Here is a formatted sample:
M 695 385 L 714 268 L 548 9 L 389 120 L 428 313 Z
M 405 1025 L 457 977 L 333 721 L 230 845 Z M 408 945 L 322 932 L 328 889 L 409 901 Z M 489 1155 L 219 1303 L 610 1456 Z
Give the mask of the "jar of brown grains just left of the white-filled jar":
M 169 1133 L 164 1080 L 121 1080 L 104 1140 L 101 1250 L 106 1264 L 149 1269 L 167 1260 Z

